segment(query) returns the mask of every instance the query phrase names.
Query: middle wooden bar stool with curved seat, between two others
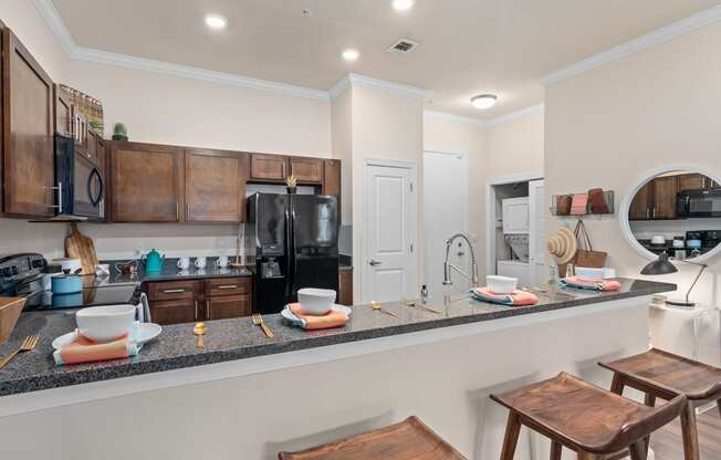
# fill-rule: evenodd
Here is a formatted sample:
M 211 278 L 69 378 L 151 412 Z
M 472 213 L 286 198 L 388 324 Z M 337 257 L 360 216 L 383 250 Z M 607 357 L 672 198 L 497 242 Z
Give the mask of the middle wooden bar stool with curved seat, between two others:
M 648 436 L 679 416 L 686 397 L 650 408 L 561 373 L 548 380 L 491 398 L 511 410 L 501 460 L 512 460 L 524 425 L 551 439 L 551 460 L 566 447 L 582 460 L 600 460 L 618 451 L 646 460 Z

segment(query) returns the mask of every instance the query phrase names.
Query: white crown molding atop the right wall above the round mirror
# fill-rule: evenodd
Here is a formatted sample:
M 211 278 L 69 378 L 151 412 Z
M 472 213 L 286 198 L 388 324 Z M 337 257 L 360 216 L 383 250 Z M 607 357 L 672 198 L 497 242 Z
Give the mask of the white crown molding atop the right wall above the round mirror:
M 539 83 L 547 86 L 554 83 L 562 82 L 573 76 L 581 75 L 598 66 L 617 61 L 630 54 L 638 53 L 639 51 L 648 50 L 677 36 L 692 32 L 697 29 L 713 24 L 721 20 L 721 6 L 709 8 L 689 18 L 673 22 L 669 25 L 657 29 L 650 33 L 641 35 L 637 39 L 626 43 L 614 46 L 602 53 L 586 58 L 582 61 L 571 64 L 565 69 L 552 72 L 539 79 Z

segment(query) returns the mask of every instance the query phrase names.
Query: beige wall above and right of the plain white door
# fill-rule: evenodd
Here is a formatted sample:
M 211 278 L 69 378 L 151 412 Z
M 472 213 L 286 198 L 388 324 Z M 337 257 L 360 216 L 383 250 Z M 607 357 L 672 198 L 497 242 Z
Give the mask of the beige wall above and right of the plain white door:
M 479 275 L 485 271 L 485 151 L 483 126 L 454 117 L 424 114 L 424 150 L 464 154 L 468 165 L 469 233 L 479 258 Z M 449 178 L 452 180 L 452 178 Z

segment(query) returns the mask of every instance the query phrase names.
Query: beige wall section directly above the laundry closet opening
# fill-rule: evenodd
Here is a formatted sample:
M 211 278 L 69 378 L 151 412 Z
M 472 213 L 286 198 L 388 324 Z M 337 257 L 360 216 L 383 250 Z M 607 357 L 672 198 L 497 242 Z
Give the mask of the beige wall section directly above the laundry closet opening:
M 489 179 L 543 172 L 543 108 L 485 129 L 485 172 Z

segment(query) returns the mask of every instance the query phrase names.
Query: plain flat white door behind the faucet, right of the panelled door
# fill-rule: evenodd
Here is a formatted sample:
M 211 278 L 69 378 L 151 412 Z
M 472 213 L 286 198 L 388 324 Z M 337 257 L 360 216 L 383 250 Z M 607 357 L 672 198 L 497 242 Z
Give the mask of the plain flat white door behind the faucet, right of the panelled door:
M 426 151 L 424 154 L 425 281 L 430 293 L 464 292 L 468 283 L 456 275 L 452 286 L 443 289 L 446 240 L 468 232 L 468 168 L 466 156 Z M 451 263 L 470 271 L 466 243 L 451 248 Z

